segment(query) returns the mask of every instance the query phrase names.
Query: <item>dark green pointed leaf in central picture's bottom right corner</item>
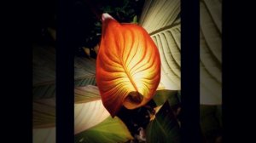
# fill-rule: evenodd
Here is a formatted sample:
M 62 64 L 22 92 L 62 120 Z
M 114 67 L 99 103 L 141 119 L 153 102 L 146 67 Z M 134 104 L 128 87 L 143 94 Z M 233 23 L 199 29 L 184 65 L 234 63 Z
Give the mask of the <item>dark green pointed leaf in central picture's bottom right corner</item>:
M 148 123 L 146 140 L 148 143 L 180 142 L 180 128 L 168 102 L 161 107 L 154 120 Z

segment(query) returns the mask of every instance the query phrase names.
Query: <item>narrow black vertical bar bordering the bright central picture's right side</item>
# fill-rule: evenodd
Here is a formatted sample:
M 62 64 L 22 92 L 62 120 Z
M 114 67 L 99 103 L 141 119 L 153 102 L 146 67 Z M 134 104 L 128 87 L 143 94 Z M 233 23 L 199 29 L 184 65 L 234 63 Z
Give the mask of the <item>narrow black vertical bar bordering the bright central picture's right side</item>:
M 181 142 L 201 142 L 200 3 L 181 1 Z

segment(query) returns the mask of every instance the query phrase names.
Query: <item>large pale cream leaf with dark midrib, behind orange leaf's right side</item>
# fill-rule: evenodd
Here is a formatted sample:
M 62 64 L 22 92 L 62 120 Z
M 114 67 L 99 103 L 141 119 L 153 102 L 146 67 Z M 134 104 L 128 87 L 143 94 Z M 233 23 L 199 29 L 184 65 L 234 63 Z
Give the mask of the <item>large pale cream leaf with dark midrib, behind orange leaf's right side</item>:
M 139 24 L 160 51 L 158 89 L 180 90 L 180 0 L 145 1 Z

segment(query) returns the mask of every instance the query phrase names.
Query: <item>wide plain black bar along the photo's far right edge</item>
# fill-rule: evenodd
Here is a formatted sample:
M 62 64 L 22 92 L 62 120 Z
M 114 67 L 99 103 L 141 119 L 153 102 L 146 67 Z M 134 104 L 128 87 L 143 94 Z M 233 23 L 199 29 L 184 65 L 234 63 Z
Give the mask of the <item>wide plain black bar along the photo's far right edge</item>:
M 249 131 L 256 120 L 254 7 L 223 1 L 223 142 L 256 142 Z M 244 30 L 236 30 L 241 26 L 237 15 L 246 20 Z

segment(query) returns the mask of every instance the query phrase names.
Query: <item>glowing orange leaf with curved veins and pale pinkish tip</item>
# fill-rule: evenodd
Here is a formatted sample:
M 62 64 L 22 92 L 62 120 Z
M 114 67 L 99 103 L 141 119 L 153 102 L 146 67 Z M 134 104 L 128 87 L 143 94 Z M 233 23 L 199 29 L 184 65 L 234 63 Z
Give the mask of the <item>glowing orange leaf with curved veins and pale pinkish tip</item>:
M 112 117 L 122 105 L 135 109 L 153 98 L 160 83 L 160 54 L 143 27 L 102 14 L 96 83 Z

